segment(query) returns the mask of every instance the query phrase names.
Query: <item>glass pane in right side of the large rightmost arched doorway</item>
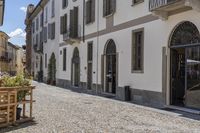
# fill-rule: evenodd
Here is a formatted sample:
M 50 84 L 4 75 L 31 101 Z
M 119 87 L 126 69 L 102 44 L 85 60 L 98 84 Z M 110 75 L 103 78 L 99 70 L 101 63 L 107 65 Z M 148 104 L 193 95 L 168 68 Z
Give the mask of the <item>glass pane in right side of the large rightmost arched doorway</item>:
M 200 47 L 187 48 L 186 106 L 200 108 Z

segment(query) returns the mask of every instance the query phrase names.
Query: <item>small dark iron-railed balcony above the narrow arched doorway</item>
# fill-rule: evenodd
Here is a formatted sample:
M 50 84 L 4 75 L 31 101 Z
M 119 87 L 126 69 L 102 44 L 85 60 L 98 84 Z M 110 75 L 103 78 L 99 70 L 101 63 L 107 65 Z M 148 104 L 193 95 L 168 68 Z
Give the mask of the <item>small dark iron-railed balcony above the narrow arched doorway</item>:
M 80 43 L 81 41 L 81 26 L 78 28 L 69 28 L 66 33 L 63 34 L 63 41 L 67 44 Z

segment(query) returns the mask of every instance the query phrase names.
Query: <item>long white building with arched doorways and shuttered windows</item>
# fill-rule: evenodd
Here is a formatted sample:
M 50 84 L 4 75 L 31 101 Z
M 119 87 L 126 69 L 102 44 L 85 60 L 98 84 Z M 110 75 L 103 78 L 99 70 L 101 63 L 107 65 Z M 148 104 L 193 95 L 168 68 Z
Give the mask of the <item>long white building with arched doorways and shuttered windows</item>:
M 199 0 L 42 0 L 30 17 L 32 44 L 42 29 L 50 39 L 33 51 L 32 70 L 58 86 L 121 100 L 130 86 L 136 103 L 199 109 L 199 15 Z

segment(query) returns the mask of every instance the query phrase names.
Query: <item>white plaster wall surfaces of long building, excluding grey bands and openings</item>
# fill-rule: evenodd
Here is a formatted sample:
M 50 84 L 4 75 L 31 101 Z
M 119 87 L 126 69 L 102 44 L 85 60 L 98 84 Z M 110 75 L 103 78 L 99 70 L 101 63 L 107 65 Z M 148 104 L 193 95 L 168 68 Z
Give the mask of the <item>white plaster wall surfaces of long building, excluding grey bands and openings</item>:
M 51 0 L 50 0 L 51 1 Z M 49 3 L 48 2 L 48 6 Z M 80 44 L 65 45 L 59 47 L 63 43 L 63 36 L 60 35 L 60 16 L 65 13 L 68 14 L 69 24 L 69 10 L 74 6 L 79 6 L 79 24 L 82 25 L 82 1 L 72 2 L 69 0 L 69 6 L 62 9 L 62 2 L 56 1 L 56 16 L 49 19 L 49 22 L 56 21 L 56 38 L 55 40 L 48 40 L 44 44 L 44 54 L 47 53 L 48 59 L 52 52 L 56 54 L 57 59 L 57 78 L 71 80 L 71 59 L 73 50 L 78 47 L 81 63 L 81 82 L 87 81 L 87 42 L 93 41 L 93 83 L 101 84 L 101 55 L 103 54 L 106 42 L 113 39 L 116 43 L 117 52 L 119 54 L 119 79 L 118 85 L 123 87 L 130 85 L 131 88 L 149 90 L 149 91 L 162 91 L 162 47 L 168 46 L 169 36 L 173 28 L 182 21 L 191 21 L 198 29 L 200 29 L 200 13 L 194 10 L 186 11 L 169 17 L 167 21 L 160 19 L 123 29 L 117 32 L 112 32 L 102 35 L 98 38 L 91 38 Z M 106 18 L 103 17 L 103 1 L 99 1 L 99 30 L 106 28 Z M 132 0 L 122 1 L 117 0 L 117 11 L 114 14 L 114 25 L 125 23 L 127 21 L 149 15 L 148 1 L 144 3 L 131 6 Z M 96 2 L 98 6 L 98 2 Z M 49 16 L 50 16 L 49 6 Z M 58 15 L 59 14 L 59 15 Z M 97 8 L 95 22 L 85 26 L 86 35 L 97 31 Z M 144 73 L 131 72 L 131 49 L 132 49 L 132 31 L 135 29 L 144 28 Z M 99 41 L 99 43 L 98 43 Z M 60 55 L 60 50 L 67 48 L 67 70 L 63 71 L 63 55 Z M 97 50 L 98 49 L 98 50 Z M 169 55 L 168 55 L 169 57 Z M 97 61 L 98 58 L 98 61 Z M 43 57 L 44 60 L 44 57 Z M 43 65 L 44 66 L 44 65 Z M 98 70 L 97 70 L 98 69 Z M 47 69 L 44 68 L 44 76 L 47 76 Z M 168 72 L 169 73 L 169 72 Z M 96 79 L 98 78 L 98 82 Z

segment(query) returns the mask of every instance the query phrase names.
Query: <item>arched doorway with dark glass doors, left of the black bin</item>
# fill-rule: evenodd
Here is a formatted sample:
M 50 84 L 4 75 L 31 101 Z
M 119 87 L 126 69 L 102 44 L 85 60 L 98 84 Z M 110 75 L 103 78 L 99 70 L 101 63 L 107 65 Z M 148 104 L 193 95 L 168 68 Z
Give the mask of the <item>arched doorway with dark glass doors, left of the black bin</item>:
M 108 40 L 104 49 L 104 92 L 116 93 L 117 87 L 117 54 L 115 42 Z

